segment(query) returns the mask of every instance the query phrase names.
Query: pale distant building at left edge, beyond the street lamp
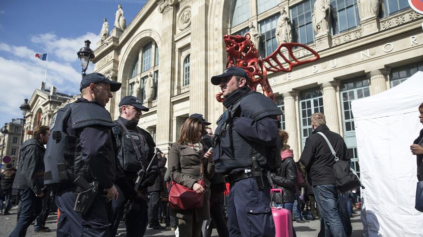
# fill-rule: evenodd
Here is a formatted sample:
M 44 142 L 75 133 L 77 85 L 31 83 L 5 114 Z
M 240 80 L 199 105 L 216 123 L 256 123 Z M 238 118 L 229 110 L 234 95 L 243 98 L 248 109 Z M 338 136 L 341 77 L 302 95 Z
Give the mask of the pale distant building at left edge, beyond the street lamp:
M 1 134 L 0 137 L 0 153 L 3 157 L 8 155 L 12 157 L 12 165 L 15 166 L 18 160 L 19 145 L 21 144 L 21 132 L 22 132 L 23 119 L 12 119 L 11 122 L 6 123 L 4 128 L 8 130 L 7 133 Z

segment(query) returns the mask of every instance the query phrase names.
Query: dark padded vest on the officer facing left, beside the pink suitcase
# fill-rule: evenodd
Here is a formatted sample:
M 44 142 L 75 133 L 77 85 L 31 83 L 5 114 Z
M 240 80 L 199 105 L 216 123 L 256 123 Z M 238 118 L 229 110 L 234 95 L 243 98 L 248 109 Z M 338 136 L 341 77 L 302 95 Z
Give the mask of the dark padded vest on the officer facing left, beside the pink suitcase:
M 243 107 L 241 109 L 241 107 Z M 274 146 L 265 146 L 242 137 L 233 126 L 236 117 L 248 117 L 258 121 L 265 117 L 276 117 L 281 111 L 260 93 L 251 92 L 230 106 L 218 120 L 214 136 L 213 160 L 216 172 L 230 173 L 234 169 L 252 167 L 255 156 L 261 168 L 273 170 L 280 165 L 282 142 L 277 136 Z

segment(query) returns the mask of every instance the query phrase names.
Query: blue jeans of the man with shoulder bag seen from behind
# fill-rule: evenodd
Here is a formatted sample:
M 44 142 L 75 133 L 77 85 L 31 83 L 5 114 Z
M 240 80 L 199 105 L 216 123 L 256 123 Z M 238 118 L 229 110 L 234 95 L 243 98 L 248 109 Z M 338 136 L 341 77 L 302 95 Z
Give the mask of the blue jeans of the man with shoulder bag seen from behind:
M 324 236 L 346 237 L 338 213 L 338 190 L 336 186 L 334 184 L 316 185 L 314 186 L 314 196 L 322 216 Z

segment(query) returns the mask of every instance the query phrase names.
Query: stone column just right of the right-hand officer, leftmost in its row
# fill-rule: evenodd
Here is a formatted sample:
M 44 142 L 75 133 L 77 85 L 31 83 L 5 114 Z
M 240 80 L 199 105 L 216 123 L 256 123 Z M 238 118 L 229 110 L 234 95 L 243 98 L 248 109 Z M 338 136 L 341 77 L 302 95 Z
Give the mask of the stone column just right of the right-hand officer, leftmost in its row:
M 285 104 L 285 130 L 289 133 L 290 138 L 288 144 L 291 146 L 291 149 L 294 151 L 294 160 L 298 161 L 300 159 L 300 137 L 298 130 L 298 114 L 297 114 L 297 103 L 298 103 L 298 93 L 297 92 L 287 92 L 283 94 L 284 104 Z

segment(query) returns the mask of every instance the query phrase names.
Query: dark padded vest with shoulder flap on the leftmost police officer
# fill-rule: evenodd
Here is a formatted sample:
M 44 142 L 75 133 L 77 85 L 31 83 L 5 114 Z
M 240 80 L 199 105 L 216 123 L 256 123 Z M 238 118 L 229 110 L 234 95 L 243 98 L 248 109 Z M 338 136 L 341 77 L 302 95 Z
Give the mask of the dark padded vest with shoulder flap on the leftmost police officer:
M 102 106 L 77 101 L 67 104 L 54 115 L 50 125 L 50 137 L 44 154 L 44 184 L 72 183 L 79 174 L 87 174 L 87 164 L 82 161 L 80 140 L 68 134 L 68 121 L 72 129 L 89 126 L 114 127 L 110 113 Z

